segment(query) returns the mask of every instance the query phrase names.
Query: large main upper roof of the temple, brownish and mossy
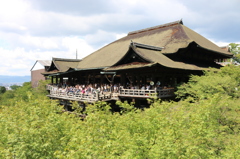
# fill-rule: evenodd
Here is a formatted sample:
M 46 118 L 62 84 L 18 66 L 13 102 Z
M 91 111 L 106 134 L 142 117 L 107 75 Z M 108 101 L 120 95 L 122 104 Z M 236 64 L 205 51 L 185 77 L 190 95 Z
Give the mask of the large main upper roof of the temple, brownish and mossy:
M 164 47 L 160 52 L 161 54 L 176 53 L 180 48 L 186 48 L 190 43 L 195 42 L 200 47 L 218 53 L 226 58 L 232 56 L 231 53 L 219 48 L 211 41 L 184 26 L 180 20 L 156 27 L 130 32 L 127 36 L 116 40 L 85 57 L 81 62 L 79 62 L 77 69 L 106 68 L 113 66 L 127 53 L 131 41 L 156 47 Z M 147 58 L 151 59 L 153 63 L 161 62 L 162 65 L 168 66 L 169 64 L 173 64 L 168 63 L 170 59 L 164 55 L 161 56 L 158 54 L 157 58 L 155 58 L 155 55 L 156 54 L 152 52 Z M 160 56 L 166 61 L 157 61 L 156 59 L 160 59 Z M 181 68 L 183 65 L 180 66 L 175 63 L 174 65 L 171 65 L 171 67 Z

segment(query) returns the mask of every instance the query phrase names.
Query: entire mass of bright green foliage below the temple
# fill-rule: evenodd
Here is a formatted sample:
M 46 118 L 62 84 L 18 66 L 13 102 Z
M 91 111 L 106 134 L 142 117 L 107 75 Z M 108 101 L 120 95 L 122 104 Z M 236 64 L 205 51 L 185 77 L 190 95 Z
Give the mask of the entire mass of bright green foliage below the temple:
M 238 158 L 239 76 L 237 67 L 193 76 L 179 102 L 144 111 L 98 102 L 84 120 L 26 84 L 1 99 L 0 158 Z

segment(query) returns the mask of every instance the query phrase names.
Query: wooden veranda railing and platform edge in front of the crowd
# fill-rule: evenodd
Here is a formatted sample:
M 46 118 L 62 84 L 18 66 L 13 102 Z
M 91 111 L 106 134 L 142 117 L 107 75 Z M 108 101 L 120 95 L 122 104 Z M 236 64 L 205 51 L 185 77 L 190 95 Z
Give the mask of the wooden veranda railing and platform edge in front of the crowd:
M 167 89 L 120 89 L 118 92 L 94 92 L 94 93 L 81 93 L 81 92 L 62 92 L 57 86 L 47 85 L 47 90 L 50 94 L 48 97 L 53 99 L 62 99 L 69 101 L 94 103 L 97 101 L 110 101 L 119 100 L 121 98 L 171 98 L 174 97 L 174 88 Z

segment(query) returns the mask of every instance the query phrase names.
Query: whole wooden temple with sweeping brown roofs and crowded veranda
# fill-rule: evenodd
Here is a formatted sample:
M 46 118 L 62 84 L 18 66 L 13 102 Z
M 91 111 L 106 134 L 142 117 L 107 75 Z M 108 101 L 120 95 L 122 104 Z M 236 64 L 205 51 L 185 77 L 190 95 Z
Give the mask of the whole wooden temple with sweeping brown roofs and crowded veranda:
M 189 76 L 220 68 L 233 54 L 183 25 L 182 20 L 129 32 L 85 58 L 53 58 L 49 97 L 76 101 L 171 98 Z M 59 92 L 59 87 L 91 86 L 91 92 Z M 107 91 L 104 88 L 108 87 Z M 81 87 L 82 88 L 82 87 Z

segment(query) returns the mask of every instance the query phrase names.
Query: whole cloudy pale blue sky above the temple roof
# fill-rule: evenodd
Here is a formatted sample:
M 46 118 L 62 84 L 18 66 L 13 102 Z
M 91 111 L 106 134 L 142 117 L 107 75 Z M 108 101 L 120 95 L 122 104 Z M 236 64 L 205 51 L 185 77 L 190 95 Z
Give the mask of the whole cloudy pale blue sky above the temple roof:
M 1 0 L 0 75 L 86 57 L 128 32 L 177 20 L 218 46 L 240 43 L 240 0 Z

